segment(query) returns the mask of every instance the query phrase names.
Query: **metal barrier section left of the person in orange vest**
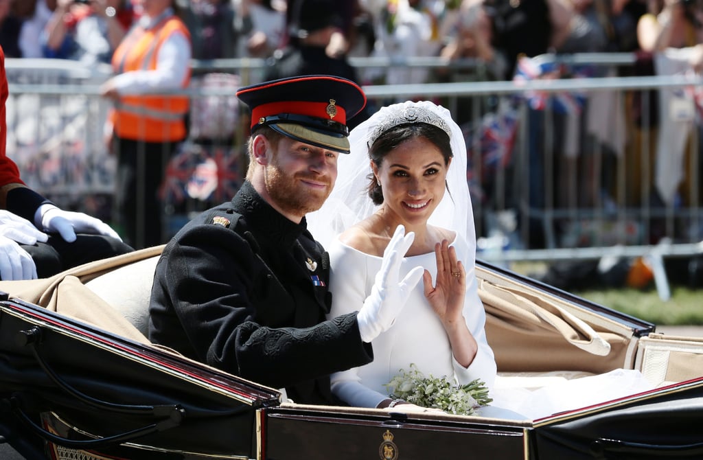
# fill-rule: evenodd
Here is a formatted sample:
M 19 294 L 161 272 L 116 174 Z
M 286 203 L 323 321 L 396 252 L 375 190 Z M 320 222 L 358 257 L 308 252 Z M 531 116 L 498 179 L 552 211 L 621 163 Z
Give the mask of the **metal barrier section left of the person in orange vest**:
M 67 209 L 110 221 L 115 162 L 103 139 L 110 107 L 96 88 L 109 66 L 62 59 L 5 61 L 7 155 L 22 180 Z

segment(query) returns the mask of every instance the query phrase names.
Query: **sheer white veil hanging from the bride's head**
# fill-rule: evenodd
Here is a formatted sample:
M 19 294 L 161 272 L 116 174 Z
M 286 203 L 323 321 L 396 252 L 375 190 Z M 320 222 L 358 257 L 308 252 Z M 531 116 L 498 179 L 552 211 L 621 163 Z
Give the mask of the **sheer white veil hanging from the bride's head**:
M 307 226 L 314 238 L 328 248 L 342 231 L 373 214 L 377 206 L 367 194 L 371 174 L 368 158 L 368 141 L 380 124 L 392 127 L 408 108 L 423 108 L 444 120 L 451 129 L 451 150 L 454 158 L 447 172 L 447 191 L 429 224 L 456 231 L 466 241 L 470 254 L 475 254 L 476 231 L 474 227 L 469 187 L 466 181 L 466 143 L 463 133 L 452 120 L 449 110 L 429 101 L 396 103 L 380 108 L 368 120 L 362 122 L 349 134 L 351 152 L 340 155 L 337 160 L 337 181 L 330 197 L 315 212 L 307 215 Z M 473 260 L 464 261 L 469 267 Z

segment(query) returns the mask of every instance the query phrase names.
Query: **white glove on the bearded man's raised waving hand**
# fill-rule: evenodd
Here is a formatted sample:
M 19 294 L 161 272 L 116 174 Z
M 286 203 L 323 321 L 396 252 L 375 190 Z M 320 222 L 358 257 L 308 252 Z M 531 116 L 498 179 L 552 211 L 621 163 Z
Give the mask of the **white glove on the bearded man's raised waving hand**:
M 413 232 L 405 235 L 405 227 L 399 225 L 383 251 L 383 262 L 376 274 L 371 293 L 356 314 L 359 333 L 364 342 L 371 342 L 393 325 L 401 309 L 405 307 L 408 295 L 423 276 L 423 267 L 415 267 L 403 281 L 398 282 L 401 262 L 414 239 Z

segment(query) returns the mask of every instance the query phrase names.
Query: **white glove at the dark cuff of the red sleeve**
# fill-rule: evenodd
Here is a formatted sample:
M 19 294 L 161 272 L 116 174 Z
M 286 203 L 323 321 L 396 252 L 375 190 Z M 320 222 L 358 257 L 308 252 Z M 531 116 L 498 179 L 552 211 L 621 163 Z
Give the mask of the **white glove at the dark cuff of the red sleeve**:
M 41 216 L 41 228 L 44 231 L 60 234 L 67 243 L 76 241 L 76 233 L 112 236 L 122 241 L 108 224 L 83 212 L 64 211 L 54 205 L 41 205 L 37 214 Z

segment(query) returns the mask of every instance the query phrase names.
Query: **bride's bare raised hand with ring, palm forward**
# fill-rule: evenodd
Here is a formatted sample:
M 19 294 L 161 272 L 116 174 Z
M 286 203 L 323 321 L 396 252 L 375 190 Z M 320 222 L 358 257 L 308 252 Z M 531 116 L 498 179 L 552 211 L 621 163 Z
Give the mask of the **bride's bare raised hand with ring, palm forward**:
M 442 240 L 435 244 L 434 255 L 437 259 L 437 279 L 432 286 L 432 275 L 425 270 L 425 297 L 445 328 L 456 326 L 456 321 L 463 324 L 462 311 L 466 293 L 464 265 L 457 260 L 456 250 L 449 245 L 449 241 Z

